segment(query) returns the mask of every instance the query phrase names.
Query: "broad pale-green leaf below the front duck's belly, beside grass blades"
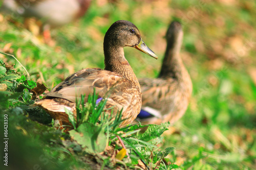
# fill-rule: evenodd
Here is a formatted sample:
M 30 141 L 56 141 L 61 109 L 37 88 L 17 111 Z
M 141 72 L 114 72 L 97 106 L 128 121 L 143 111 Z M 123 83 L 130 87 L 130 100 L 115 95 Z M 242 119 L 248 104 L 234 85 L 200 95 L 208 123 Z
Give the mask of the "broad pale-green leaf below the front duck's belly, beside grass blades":
M 99 153 L 104 151 L 106 147 L 104 130 L 89 122 L 84 122 L 76 130 L 71 130 L 69 133 L 87 152 Z

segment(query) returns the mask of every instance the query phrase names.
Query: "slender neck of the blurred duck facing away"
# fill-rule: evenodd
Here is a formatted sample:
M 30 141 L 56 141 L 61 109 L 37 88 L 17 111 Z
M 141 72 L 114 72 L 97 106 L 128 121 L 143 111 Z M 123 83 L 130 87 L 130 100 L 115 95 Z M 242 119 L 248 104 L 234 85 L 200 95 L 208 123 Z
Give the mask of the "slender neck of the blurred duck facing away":
M 180 58 L 181 44 L 182 36 L 174 37 L 173 40 L 167 42 L 159 78 L 173 78 L 177 81 L 182 81 L 184 80 L 183 77 L 188 75 Z

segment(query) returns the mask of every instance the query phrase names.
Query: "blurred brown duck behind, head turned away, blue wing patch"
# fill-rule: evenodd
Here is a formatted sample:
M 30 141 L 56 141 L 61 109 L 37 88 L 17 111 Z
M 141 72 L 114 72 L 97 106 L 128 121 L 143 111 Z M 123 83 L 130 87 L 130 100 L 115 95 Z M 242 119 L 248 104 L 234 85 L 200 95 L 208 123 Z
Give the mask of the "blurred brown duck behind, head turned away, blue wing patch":
M 166 33 L 167 47 L 156 79 L 139 79 L 142 108 L 137 117 L 144 124 L 174 123 L 185 113 L 192 93 L 192 82 L 180 57 L 183 31 L 173 21 Z

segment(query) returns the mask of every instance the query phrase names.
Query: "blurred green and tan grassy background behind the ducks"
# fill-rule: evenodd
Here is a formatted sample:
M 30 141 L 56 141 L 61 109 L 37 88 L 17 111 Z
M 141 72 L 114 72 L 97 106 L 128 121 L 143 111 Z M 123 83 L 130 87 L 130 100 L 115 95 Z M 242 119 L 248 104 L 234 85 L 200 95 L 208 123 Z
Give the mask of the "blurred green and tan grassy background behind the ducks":
M 133 22 L 153 58 L 125 47 L 138 78 L 158 75 L 169 23 L 183 25 L 181 57 L 193 81 L 186 114 L 164 134 L 168 158 L 186 169 L 256 168 L 256 3 L 251 1 L 93 1 L 86 15 L 51 30 L 44 44 L 0 14 L 0 50 L 14 54 L 31 79 L 49 89 L 81 68 L 104 68 L 103 38 L 120 19 Z M 19 74 L 24 69 L 12 58 Z M 17 120 L 18 122 L 18 120 Z M 39 139 L 38 139 L 39 140 Z M 204 158 L 195 163 L 201 154 Z

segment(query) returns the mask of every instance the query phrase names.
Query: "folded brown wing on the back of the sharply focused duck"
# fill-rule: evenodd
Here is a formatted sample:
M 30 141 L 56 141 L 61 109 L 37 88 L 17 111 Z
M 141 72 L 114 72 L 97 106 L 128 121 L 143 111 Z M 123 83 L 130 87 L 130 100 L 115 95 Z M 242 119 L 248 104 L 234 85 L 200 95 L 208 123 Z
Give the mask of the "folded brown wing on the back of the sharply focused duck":
M 94 88 L 100 98 L 111 98 L 122 96 L 122 91 L 133 88 L 133 86 L 129 80 L 115 72 L 100 68 L 86 68 L 66 78 L 46 95 L 75 103 L 76 98 L 80 99 L 81 94 L 85 94 L 85 102 L 87 102 L 88 95 L 93 93 Z

